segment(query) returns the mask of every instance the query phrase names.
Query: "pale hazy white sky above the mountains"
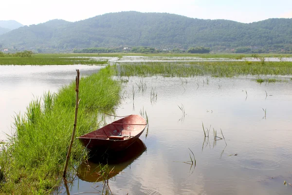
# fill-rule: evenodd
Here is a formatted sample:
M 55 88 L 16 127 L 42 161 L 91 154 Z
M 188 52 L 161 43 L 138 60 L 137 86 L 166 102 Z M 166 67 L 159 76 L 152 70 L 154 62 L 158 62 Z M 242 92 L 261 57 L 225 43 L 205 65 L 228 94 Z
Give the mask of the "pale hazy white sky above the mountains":
M 292 0 L 1 0 L 0 20 L 30 25 L 53 19 L 84 20 L 120 11 L 166 12 L 248 23 L 292 18 Z

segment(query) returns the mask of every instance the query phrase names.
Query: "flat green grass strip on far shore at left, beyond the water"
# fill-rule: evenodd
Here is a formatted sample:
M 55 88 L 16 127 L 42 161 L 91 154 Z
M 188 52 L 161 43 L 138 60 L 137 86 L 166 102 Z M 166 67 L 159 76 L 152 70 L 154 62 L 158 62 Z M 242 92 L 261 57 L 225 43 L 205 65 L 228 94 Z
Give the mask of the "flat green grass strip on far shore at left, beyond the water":
M 69 58 L 69 57 L 53 57 L 33 55 L 31 58 L 20 57 L 1 57 L 0 65 L 74 65 L 74 64 L 86 64 L 86 65 L 101 65 L 107 64 L 108 60 L 93 60 L 89 58 Z

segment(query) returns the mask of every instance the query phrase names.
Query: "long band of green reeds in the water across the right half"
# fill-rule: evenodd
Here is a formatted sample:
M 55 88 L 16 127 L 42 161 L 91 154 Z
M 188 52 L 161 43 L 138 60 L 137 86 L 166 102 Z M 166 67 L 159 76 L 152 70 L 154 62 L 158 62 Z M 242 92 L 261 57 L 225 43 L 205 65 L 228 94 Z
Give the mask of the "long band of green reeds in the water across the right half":
M 140 62 L 121 64 L 121 76 L 235 77 L 239 75 L 292 75 L 292 62 L 203 61 Z

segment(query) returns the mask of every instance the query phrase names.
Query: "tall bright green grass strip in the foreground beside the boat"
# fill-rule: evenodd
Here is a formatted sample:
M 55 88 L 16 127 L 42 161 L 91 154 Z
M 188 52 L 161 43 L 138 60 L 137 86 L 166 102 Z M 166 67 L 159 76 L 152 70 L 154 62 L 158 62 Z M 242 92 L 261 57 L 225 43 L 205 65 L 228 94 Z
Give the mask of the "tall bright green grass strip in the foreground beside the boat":
M 119 103 L 121 83 L 113 80 L 110 67 L 81 78 L 76 137 L 99 126 L 98 113 L 113 110 Z M 81 73 L 82 74 L 82 73 Z M 0 194 L 50 194 L 60 184 L 66 153 L 73 130 L 74 83 L 58 93 L 46 93 L 33 100 L 24 115 L 15 119 L 15 136 L 0 151 L 3 175 Z M 69 168 L 87 158 L 87 152 L 73 143 Z

